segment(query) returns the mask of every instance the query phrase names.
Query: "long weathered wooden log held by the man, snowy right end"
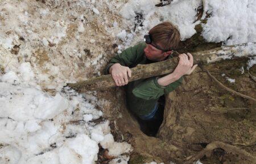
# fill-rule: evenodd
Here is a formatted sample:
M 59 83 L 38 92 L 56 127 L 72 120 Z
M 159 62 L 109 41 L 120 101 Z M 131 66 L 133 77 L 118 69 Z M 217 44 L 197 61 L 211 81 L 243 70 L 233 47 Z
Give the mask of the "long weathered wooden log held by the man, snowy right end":
M 223 59 L 253 57 L 256 55 L 256 43 L 222 46 L 221 48 L 200 51 L 192 55 L 194 63 L 201 65 L 221 61 Z M 166 61 L 151 64 L 139 64 L 137 67 L 131 68 L 132 76 L 129 81 L 170 74 L 176 68 L 178 61 L 179 58 L 175 57 L 167 59 Z M 66 85 L 66 87 L 71 87 L 78 92 L 106 89 L 114 86 L 115 82 L 111 75 L 101 75 L 93 79 L 80 81 L 78 83 L 69 83 Z

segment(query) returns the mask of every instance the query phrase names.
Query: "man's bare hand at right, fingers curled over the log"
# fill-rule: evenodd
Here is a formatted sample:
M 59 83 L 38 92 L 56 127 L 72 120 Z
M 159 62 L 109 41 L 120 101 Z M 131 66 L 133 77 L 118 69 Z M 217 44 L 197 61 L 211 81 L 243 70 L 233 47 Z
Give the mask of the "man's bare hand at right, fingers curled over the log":
M 190 75 L 195 69 L 197 64 L 193 66 L 193 57 L 190 53 L 179 55 L 179 64 L 174 70 L 174 75 L 181 77 L 183 75 Z

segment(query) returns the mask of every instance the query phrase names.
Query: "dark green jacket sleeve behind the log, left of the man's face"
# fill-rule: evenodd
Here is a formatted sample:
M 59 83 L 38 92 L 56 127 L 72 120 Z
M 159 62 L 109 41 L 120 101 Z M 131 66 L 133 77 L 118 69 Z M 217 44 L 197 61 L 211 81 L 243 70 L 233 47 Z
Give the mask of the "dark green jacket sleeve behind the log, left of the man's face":
M 104 74 L 109 74 L 109 68 L 115 63 L 120 63 L 122 66 L 130 67 L 140 57 L 139 54 L 143 54 L 143 50 L 143 42 L 123 50 L 121 54 L 115 55 L 115 57 L 110 60 L 110 63 L 105 67 Z

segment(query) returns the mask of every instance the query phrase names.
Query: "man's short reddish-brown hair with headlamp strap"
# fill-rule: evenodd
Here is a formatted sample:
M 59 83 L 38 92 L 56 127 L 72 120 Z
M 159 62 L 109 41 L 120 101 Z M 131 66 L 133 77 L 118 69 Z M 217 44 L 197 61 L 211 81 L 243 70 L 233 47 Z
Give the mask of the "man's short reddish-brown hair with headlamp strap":
M 174 50 L 179 46 L 180 32 L 176 25 L 165 21 L 151 28 L 148 32 L 155 44 L 160 44 L 164 50 Z

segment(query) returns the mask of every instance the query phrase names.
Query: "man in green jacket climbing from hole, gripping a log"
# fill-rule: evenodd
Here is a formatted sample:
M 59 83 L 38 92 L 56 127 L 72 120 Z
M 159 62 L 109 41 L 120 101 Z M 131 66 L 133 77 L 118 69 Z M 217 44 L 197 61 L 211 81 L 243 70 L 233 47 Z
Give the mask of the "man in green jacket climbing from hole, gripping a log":
M 106 73 L 112 74 L 117 86 L 126 85 L 127 107 L 142 120 L 152 120 L 158 110 L 158 99 L 177 88 L 183 75 L 189 75 L 195 70 L 191 54 L 180 54 L 179 64 L 174 72 L 163 77 L 150 77 L 132 81 L 128 84 L 128 76 L 137 64 L 149 64 L 172 58 L 172 50 L 180 41 L 179 30 L 169 22 L 163 22 L 144 36 L 144 41 L 111 59 L 106 66 Z

